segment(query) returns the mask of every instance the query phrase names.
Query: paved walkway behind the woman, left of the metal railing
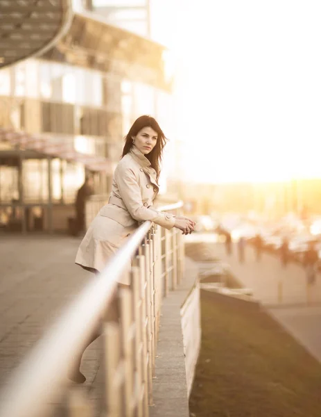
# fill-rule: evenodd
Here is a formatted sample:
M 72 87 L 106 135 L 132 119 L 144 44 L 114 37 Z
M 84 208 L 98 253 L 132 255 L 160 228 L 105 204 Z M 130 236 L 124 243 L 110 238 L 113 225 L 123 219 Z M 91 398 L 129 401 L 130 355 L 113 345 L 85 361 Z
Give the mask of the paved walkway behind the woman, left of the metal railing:
M 9 374 L 93 275 L 74 264 L 79 238 L 1 236 L 0 389 Z M 85 385 L 92 386 L 101 347 L 85 352 Z

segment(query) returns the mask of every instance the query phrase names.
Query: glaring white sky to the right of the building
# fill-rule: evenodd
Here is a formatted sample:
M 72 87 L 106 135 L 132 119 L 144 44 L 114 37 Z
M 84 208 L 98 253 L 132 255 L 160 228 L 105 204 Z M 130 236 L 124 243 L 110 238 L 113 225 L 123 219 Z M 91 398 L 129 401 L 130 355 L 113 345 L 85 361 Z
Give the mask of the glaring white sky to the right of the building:
M 153 10 L 180 63 L 186 179 L 321 177 L 320 1 L 154 0 Z

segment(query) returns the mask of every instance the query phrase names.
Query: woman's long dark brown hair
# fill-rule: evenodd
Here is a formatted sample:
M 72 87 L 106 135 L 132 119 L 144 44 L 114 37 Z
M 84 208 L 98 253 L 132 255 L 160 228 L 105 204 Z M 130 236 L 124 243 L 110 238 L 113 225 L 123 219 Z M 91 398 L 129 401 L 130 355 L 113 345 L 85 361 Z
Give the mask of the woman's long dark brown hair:
M 150 165 L 156 171 L 156 179 L 158 181 L 160 174 L 160 165 L 162 163 L 163 149 L 166 145 L 167 139 L 154 117 L 144 115 L 138 117 L 138 119 L 135 120 L 135 122 L 132 124 L 132 127 L 130 128 L 130 131 L 125 136 L 125 146 L 123 147 L 123 154 L 121 157 L 123 158 L 125 154 L 128 154 L 128 152 L 130 152 L 130 149 L 133 146 L 132 136 L 137 136 L 137 133 L 141 131 L 141 129 L 144 129 L 144 127 L 151 127 L 157 133 L 157 142 L 155 147 L 149 154 L 145 156 L 148 159 L 148 161 L 150 161 Z

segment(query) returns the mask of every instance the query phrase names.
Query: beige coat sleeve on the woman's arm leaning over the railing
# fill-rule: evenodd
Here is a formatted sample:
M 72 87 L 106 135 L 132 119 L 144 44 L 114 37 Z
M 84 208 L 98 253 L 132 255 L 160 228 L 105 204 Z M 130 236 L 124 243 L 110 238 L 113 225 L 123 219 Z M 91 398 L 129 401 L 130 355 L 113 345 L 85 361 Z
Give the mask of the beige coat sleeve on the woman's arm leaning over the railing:
M 123 199 L 132 218 L 139 222 L 150 220 L 165 229 L 172 229 L 174 227 L 175 217 L 173 215 L 144 206 L 141 199 L 141 189 L 135 177 L 135 172 L 128 167 L 118 165 L 114 176 L 119 193 L 121 194 L 121 199 Z

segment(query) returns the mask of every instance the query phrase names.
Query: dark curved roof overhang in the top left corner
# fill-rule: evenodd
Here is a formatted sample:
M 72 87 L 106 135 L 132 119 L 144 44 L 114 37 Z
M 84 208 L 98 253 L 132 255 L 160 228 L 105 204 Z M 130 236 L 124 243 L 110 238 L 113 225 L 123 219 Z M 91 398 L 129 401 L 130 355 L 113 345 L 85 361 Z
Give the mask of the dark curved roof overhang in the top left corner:
M 71 0 L 0 0 L 0 68 L 51 49 L 72 21 Z

